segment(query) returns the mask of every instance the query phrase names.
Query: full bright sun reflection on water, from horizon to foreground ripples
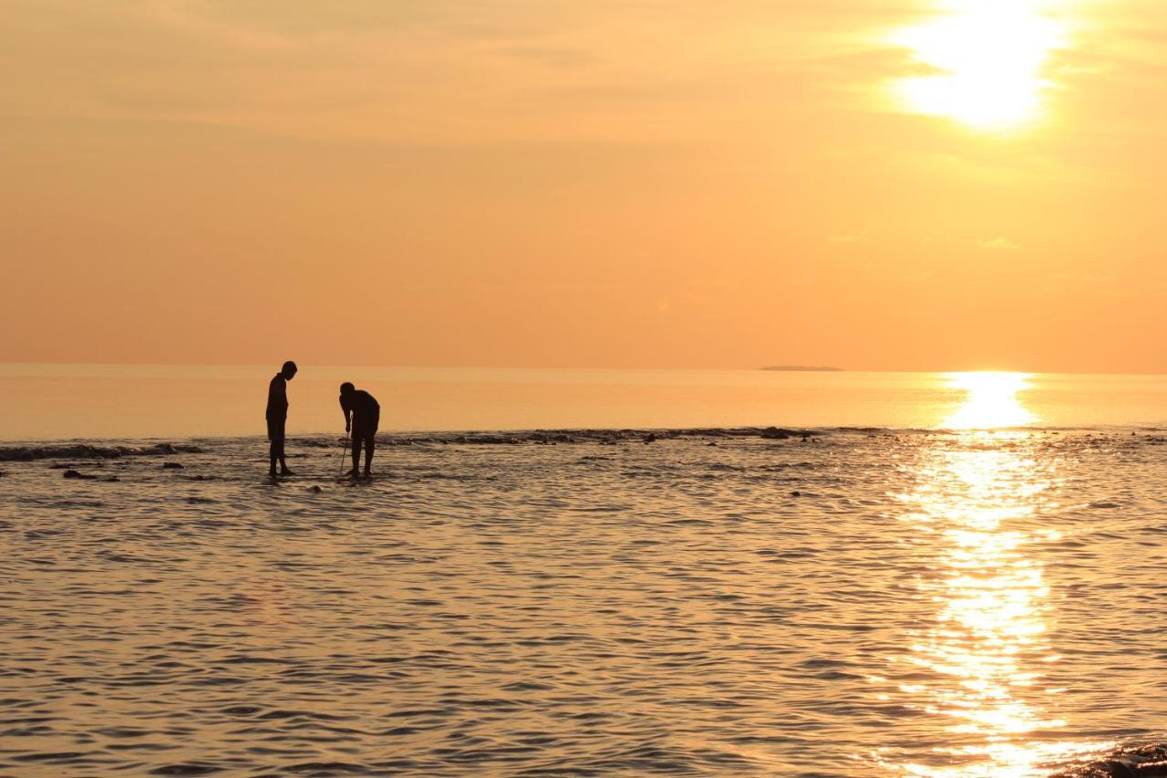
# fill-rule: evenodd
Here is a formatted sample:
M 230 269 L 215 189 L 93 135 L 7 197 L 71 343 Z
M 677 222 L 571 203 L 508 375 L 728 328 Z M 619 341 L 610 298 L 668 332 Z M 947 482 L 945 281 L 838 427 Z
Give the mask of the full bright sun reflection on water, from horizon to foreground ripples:
M 1061 690 L 1046 680 L 1058 661 L 1040 554 L 1058 537 L 1040 523 L 1053 465 L 1035 457 L 1032 433 L 983 430 L 1029 421 L 1018 401 L 1026 377 L 951 376 L 967 394 L 946 426 L 967 431 L 936 438 L 901 498 L 903 520 L 930 548 L 918 589 L 935 618 L 908 635 L 899 692 L 937 735 L 929 764 L 896 765 L 903 774 L 1014 778 L 1086 750 L 1054 739 L 1065 722 L 1050 710 Z

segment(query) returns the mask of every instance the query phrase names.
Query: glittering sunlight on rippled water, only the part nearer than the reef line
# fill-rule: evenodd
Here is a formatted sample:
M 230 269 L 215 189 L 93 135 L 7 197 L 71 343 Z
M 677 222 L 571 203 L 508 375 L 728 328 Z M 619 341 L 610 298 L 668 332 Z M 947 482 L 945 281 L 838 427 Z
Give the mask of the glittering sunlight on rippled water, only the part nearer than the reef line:
M 1027 554 L 1035 537 L 1025 522 L 1048 479 L 1011 449 L 981 446 L 938 451 L 921 475 L 913 517 L 942 541 L 942 564 L 923 584 L 938 605 L 935 626 L 915 635 L 908 659 L 934 680 L 913 690 L 949 720 L 951 755 L 972 762 L 952 774 L 1026 774 L 1051 755 L 1025 736 L 1062 723 L 1033 702 L 1042 694 L 1035 668 L 1054 657 L 1043 641 L 1049 589 Z

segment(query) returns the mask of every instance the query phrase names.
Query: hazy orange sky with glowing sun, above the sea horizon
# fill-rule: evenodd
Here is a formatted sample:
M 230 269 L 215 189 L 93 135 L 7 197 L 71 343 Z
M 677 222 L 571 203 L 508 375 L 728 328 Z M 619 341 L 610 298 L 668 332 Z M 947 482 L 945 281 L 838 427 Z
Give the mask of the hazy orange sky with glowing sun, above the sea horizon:
M 0 361 L 1167 373 L 1161 0 L 4 0 Z

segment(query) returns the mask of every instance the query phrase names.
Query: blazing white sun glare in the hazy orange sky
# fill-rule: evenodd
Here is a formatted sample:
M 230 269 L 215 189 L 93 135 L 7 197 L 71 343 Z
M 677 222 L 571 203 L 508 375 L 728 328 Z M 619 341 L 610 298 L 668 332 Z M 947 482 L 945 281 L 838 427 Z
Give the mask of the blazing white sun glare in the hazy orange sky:
M 892 36 L 935 72 L 901 79 L 909 110 L 979 128 L 1037 119 L 1050 83 L 1044 67 L 1065 36 L 1036 0 L 948 0 L 932 21 Z

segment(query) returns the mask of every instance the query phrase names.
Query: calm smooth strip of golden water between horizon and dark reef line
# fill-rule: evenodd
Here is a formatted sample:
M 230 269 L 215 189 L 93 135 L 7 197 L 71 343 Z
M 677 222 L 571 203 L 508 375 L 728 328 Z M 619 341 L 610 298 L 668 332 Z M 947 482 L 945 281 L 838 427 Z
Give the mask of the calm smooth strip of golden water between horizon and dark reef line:
M 267 382 L 277 369 L 0 363 L 0 440 L 263 436 Z M 385 431 L 770 424 L 934 429 L 952 424 L 970 398 L 981 419 L 966 418 L 964 425 L 1167 425 L 1167 376 L 978 375 L 301 363 L 288 384 L 288 433 L 341 432 L 337 388 L 343 381 L 380 401 Z M 1015 410 L 1018 402 L 1022 411 Z M 1014 411 L 1001 416 L 994 405 L 1013 405 Z

